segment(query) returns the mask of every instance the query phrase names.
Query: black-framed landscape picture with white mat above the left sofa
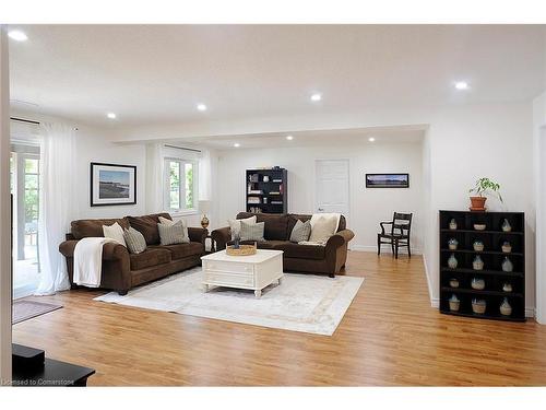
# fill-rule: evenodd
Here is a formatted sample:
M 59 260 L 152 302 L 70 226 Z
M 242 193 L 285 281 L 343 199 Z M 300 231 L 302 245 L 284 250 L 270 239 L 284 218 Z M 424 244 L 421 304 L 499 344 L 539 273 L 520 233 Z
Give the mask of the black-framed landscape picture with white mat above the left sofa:
M 136 203 L 136 166 L 91 163 L 91 206 Z

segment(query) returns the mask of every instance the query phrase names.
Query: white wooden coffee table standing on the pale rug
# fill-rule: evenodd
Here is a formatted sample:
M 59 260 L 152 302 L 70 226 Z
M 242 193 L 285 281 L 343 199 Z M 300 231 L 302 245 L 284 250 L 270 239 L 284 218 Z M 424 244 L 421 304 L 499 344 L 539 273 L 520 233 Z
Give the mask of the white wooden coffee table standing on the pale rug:
M 283 280 L 283 251 L 258 249 L 256 255 L 230 256 L 225 250 L 201 258 L 203 265 L 203 290 L 210 286 L 251 289 L 256 297 L 262 289 Z

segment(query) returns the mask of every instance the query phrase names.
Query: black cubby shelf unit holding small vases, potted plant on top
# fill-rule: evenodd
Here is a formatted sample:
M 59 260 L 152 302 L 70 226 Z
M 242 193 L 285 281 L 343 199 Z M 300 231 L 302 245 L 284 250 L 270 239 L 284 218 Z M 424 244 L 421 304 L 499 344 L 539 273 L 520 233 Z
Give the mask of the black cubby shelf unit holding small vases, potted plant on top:
M 455 221 L 456 229 L 450 227 Z M 511 231 L 502 231 L 502 223 L 508 220 Z M 475 224 L 485 224 L 483 231 L 475 230 Z M 456 249 L 450 249 L 450 239 L 456 239 Z M 484 244 L 480 251 L 474 250 L 474 243 Z M 502 244 L 510 243 L 510 251 L 502 250 Z M 508 250 L 508 249 L 505 249 Z M 440 312 L 483 319 L 525 321 L 525 214 L 523 212 L 470 212 L 440 211 Z M 455 269 L 449 267 L 448 260 L 454 255 Z M 473 269 L 474 258 L 479 255 L 484 262 L 482 270 Z M 502 261 L 508 257 L 513 265 L 510 272 L 502 270 Z M 483 290 L 472 288 L 472 280 L 482 279 Z M 451 286 L 451 281 L 459 281 L 459 286 Z M 503 290 L 505 283 L 511 291 Z M 450 298 L 455 295 L 460 301 L 459 311 L 450 309 Z M 512 307 L 511 315 L 502 315 L 500 305 L 505 297 Z M 474 298 L 484 300 L 484 314 L 472 309 Z

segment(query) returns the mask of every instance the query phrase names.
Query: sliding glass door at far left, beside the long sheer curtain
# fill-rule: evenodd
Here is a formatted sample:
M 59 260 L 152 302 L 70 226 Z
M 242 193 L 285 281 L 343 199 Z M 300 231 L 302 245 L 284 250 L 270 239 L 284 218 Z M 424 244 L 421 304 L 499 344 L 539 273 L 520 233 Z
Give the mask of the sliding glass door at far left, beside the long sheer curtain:
M 14 145 L 11 156 L 13 195 L 13 296 L 32 294 L 39 282 L 39 150 Z

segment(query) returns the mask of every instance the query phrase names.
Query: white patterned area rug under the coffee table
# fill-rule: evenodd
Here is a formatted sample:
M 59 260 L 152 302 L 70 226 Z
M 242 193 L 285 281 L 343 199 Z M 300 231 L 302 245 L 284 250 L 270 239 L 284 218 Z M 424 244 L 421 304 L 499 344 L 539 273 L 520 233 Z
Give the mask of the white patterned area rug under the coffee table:
M 286 273 L 281 285 L 253 291 L 201 289 L 201 268 L 187 270 L 130 291 L 126 296 L 110 292 L 95 301 L 149 309 L 175 312 L 277 329 L 332 336 L 363 278 Z

